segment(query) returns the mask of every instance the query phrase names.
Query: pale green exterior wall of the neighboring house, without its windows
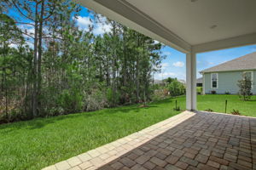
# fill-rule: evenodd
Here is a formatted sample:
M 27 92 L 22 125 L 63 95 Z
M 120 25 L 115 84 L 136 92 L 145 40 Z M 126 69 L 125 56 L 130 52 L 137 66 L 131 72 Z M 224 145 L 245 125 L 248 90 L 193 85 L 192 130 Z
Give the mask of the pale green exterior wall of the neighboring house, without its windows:
M 237 94 L 239 88 L 237 86 L 238 80 L 242 79 L 243 71 L 229 71 L 218 72 L 218 88 L 211 88 L 211 73 L 204 74 L 204 93 L 211 94 L 212 90 L 215 90 L 217 94 Z M 256 94 L 256 71 L 253 71 L 253 94 Z

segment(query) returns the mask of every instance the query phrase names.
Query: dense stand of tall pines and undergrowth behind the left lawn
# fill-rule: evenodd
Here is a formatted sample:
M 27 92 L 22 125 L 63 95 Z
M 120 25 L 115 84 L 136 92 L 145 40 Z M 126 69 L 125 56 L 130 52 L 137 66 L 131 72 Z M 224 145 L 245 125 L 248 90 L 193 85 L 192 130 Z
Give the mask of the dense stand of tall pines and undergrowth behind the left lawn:
M 0 4 L 0 122 L 152 100 L 160 42 L 92 12 L 111 31 L 81 30 L 70 0 Z

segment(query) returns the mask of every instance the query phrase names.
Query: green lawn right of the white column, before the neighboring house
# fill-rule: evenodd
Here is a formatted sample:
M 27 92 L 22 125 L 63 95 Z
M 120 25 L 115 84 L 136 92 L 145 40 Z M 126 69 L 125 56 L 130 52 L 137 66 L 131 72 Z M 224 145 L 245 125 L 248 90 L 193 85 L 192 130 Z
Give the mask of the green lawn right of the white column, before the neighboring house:
M 225 100 L 228 100 L 227 113 L 238 110 L 243 116 L 256 116 L 256 96 L 252 96 L 249 101 L 239 99 L 237 95 L 228 94 L 207 94 L 197 96 L 197 109 L 205 111 L 212 109 L 214 112 L 225 111 Z

